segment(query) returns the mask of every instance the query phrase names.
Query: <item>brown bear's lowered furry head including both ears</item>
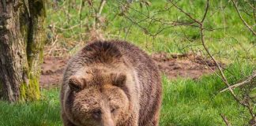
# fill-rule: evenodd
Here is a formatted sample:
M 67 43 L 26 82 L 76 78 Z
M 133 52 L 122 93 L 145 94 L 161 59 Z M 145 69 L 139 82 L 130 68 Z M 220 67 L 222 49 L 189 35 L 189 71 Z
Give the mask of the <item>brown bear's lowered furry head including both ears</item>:
M 129 89 L 126 74 L 91 70 L 68 80 L 69 93 L 64 105 L 74 124 L 115 126 L 128 117 Z

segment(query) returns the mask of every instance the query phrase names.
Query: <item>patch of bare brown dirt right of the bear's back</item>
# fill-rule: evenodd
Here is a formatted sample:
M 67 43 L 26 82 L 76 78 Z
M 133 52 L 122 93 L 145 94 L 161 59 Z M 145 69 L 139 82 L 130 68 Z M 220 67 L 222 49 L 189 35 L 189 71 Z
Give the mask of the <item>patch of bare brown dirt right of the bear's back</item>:
M 152 54 L 152 58 L 161 72 L 169 79 L 177 77 L 198 79 L 203 74 L 216 70 L 213 61 L 203 59 L 194 54 Z

